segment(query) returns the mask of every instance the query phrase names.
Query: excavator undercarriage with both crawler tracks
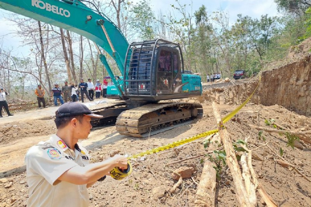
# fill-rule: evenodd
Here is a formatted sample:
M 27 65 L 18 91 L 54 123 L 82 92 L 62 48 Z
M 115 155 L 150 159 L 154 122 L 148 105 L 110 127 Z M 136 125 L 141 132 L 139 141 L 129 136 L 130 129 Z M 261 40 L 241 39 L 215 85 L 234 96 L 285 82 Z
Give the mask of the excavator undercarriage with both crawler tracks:
M 202 105 L 193 103 L 161 102 L 132 108 L 125 101 L 118 101 L 90 109 L 95 114 L 104 115 L 92 122 L 93 126 L 115 123 L 118 133 L 132 137 L 145 137 L 151 132 L 156 134 L 203 115 Z

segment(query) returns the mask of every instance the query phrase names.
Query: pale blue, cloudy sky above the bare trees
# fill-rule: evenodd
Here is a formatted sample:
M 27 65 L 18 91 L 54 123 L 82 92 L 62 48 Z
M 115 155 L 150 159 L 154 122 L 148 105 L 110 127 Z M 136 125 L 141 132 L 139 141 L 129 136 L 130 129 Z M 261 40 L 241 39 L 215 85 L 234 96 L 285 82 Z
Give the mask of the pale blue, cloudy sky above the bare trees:
M 131 1 L 135 3 L 140 0 Z M 177 3 L 175 0 L 150 0 L 150 2 L 155 13 L 161 10 L 164 14 L 171 9 L 171 4 L 176 5 Z M 181 4 L 190 4 L 191 0 L 179 0 L 179 2 Z M 268 14 L 268 16 L 280 16 L 274 0 L 193 0 L 192 2 L 193 13 L 203 4 L 207 8 L 208 14 L 211 14 L 213 11 L 226 11 L 229 15 L 230 24 L 235 22 L 238 14 L 253 18 L 260 18 L 264 14 Z M 12 31 L 15 29 L 15 25 L 4 19 L 6 13 L 7 11 L 0 9 L 0 39 L 2 39 L 2 44 L 7 48 L 12 48 L 13 54 L 16 56 L 27 56 L 30 48 L 27 46 L 21 47 L 21 39 L 14 37 Z

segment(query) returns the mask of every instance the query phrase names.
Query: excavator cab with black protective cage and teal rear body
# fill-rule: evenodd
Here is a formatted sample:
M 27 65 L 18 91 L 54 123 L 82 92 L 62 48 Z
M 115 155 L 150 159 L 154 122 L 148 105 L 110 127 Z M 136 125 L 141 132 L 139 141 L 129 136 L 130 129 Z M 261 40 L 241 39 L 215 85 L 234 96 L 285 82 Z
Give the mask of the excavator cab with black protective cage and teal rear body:
M 134 42 L 125 57 L 124 96 L 145 101 L 200 96 L 201 77 L 183 72 L 179 44 L 163 39 Z

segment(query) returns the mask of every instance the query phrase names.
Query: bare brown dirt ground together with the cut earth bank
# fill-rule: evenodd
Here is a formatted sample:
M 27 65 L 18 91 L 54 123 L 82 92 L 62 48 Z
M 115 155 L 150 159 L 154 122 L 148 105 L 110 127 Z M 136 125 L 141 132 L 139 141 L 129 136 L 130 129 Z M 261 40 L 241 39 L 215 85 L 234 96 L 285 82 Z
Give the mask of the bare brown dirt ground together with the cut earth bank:
M 311 44 L 311 41 L 309 41 Z M 307 44 L 309 44 L 307 41 Z M 309 45 L 308 45 L 309 47 Z M 311 47 L 311 46 L 310 46 Z M 309 51 L 306 46 L 299 46 Z M 311 66 L 310 55 L 303 53 L 295 56 L 295 61 L 276 70 L 262 73 L 262 82 L 251 101 L 239 111 L 233 119 L 225 123 L 225 127 L 233 141 L 248 138 L 248 148 L 254 149 L 267 142 L 272 148 L 261 147 L 254 154 L 252 165 L 258 180 L 278 206 L 311 206 L 311 146 L 300 141 L 302 147 L 287 146 L 287 138 L 278 133 L 263 132 L 254 128 L 267 125 L 268 120 L 295 132 L 311 130 Z M 289 55 L 289 56 L 290 56 Z M 285 72 L 284 72 L 285 71 Z M 284 74 L 284 75 L 283 75 Z M 286 84 L 289 83 L 289 84 Z M 211 88 L 203 92 L 202 97 L 183 101 L 200 102 L 204 109 L 201 119 L 192 124 L 179 126 L 147 138 L 135 138 L 120 135 L 115 126 L 107 126 L 92 130 L 87 140 L 79 144 L 85 146 L 97 162 L 109 158 L 116 153 L 135 155 L 158 146 L 180 139 L 192 137 L 216 128 L 211 102 L 218 103 L 221 116 L 229 114 L 241 104 L 258 84 L 258 78 L 234 84 L 226 88 Z M 270 87 L 270 88 L 269 88 Z M 94 101 L 95 102 L 95 101 Z M 105 104 L 101 99 L 92 104 Z M 89 107 L 91 106 L 91 103 Z M 97 105 L 98 106 L 98 105 Z M 0 119 L 0 207 L 26 206 L 27 182 L 24 156 L 27 149 L 56 132 L 53 115 L 56 107 L 16 113 L 12 117 Z M 299 114 L 298 114 L 299 113 Z M 195 195 L 200 182 L 205 155 L 207 153 L 202 142 L 204 138 L 190 144 L 179 146 L 173 150 L 147 155 L 132 160 L 133 172 L 121 181 L 108 177 L 103 182 L 95 183 L 89 188 L 91 207 L 136 207 L 136 206 L 194 206 Z M 277 164 L 280 149 L 284 150 L 282 158 L 295 166 L 307 179 L 293 168 Z M 253 155 L 253 158 L 255 156 Z M 170 164 L 177 162 L 176 164 Z M 192 168 L 191 178 L 183 179 L 174 193 L 169 190 L 177 182 L 172 172 L 180 167 Z M 266 206 L 257 193 L 258 207 Z M 225 166 L 220 171 L 220 179 L 216 183 L 216 200 L 218 207 L 239 206 L 236 190 L 230 170 Z

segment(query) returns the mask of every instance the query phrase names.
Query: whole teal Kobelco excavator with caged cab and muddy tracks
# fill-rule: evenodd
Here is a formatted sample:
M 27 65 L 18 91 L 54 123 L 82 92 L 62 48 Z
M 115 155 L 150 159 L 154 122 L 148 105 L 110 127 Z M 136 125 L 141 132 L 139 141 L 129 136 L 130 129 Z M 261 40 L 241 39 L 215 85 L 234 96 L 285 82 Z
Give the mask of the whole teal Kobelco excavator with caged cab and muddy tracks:
M 70 30 L 95 43 L 120 99 L 92 107 L 93 113 L 104 115 L 95 125 L 113 121 L 120 134 L 144 137 L 202 116 L 202 105 L 172 101 L 202 94 L 200 76 L 184 74 L 178 43 L 158 38 L 129 44 L 96 5 L 88 7 L 86 2 L 0 0 L 0 8 Z M 114 59 L 122 79 L 116 78 L 103 50 Z

